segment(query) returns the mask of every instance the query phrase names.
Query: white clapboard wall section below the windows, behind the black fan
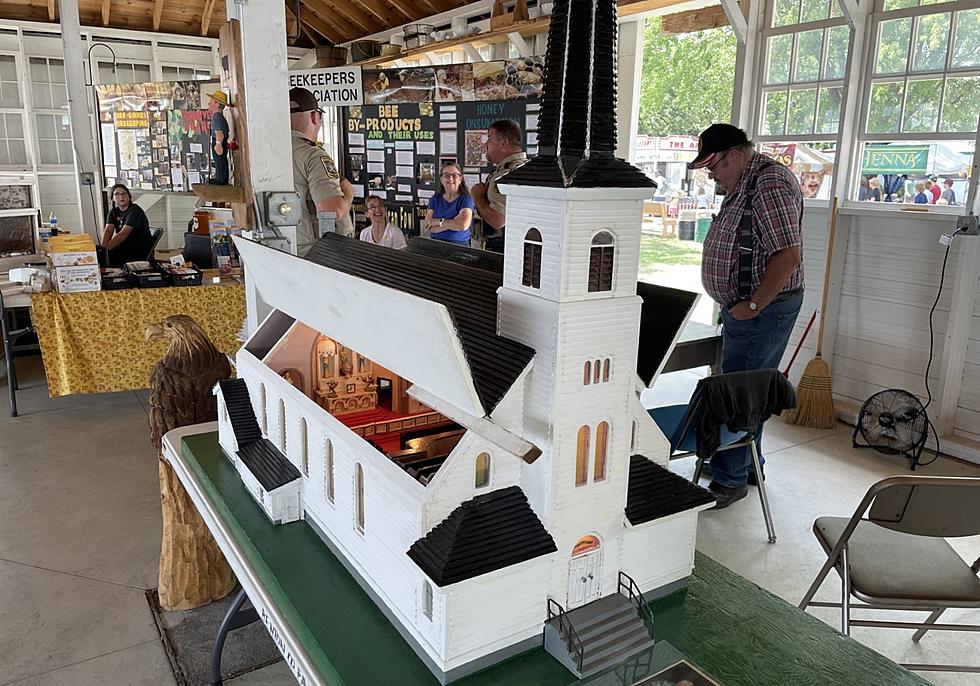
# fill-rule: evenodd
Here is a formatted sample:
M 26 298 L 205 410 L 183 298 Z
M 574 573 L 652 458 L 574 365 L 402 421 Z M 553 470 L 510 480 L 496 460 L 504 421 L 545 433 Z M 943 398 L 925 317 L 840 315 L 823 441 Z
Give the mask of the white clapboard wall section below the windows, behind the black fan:
M 894 215 L 847 220 L 850 230 L 833 348 L 834 394 L 861 404 L 880 390 L 902 388 L 925 400 L 929 308 L 939 286 L 944 248 L 938 239 L 946 226 Z M 934 395 L 956 266 L 954 252 L 934 319 Z

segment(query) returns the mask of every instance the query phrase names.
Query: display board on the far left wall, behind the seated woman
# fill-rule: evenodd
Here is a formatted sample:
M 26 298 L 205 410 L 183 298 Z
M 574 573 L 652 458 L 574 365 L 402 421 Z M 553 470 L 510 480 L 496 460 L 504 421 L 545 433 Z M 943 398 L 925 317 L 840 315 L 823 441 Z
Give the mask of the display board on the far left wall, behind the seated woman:
M 210 81 L 106 84 L 95 87 L 107 186 L 189 192 L 211 168 Z

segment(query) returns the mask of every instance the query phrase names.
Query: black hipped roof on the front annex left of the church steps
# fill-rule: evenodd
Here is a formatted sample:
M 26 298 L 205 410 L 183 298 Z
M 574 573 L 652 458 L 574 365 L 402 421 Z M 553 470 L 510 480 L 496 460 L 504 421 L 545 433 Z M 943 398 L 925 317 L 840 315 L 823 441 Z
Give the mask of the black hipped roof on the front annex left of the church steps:
M 518 486 L 468 500 L 408 556 L 437 586 L 493 572 L 558 550 Z

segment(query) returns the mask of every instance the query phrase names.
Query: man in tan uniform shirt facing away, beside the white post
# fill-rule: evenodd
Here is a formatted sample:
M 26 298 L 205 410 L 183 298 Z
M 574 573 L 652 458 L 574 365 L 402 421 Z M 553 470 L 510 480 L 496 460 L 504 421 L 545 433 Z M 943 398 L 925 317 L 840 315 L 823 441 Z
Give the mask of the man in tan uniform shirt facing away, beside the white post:
M 289 91 L 289 120 L 293 143 L 293 185 L 302 202 L 303 217 L 296 227 L 297 255 L 305 255 L 319 238 L 317 212 L 337 215 L 337 233 L 353 237 L 350 206 L 354 188 L 340 175 L 337 165 L 316 144 L 320 130 L 320 104 L 305 88 Z

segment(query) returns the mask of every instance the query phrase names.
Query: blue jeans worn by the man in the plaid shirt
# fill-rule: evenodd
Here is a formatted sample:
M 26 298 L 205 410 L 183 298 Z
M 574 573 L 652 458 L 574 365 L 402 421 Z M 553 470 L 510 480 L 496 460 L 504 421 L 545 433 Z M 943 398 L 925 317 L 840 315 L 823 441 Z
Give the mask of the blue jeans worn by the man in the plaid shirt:
M 721 320 L 725 328 L 721 371 L 727 374 L 778 367 L 802 305 L 803 290 L 800 289 L 788 296 L 776 296 L 754 319 L 739 321 L 728 313 L 727 307 L 722 308 Z M 761 425 L 756 434 L 756 448 L 762 464 L 765 460 L 762 457 Z M 751 466 L 752 454 L 748 448 L 725 450 L 711 458 L 711 478 L 722 486 L 741 486 L 748 480 Z

